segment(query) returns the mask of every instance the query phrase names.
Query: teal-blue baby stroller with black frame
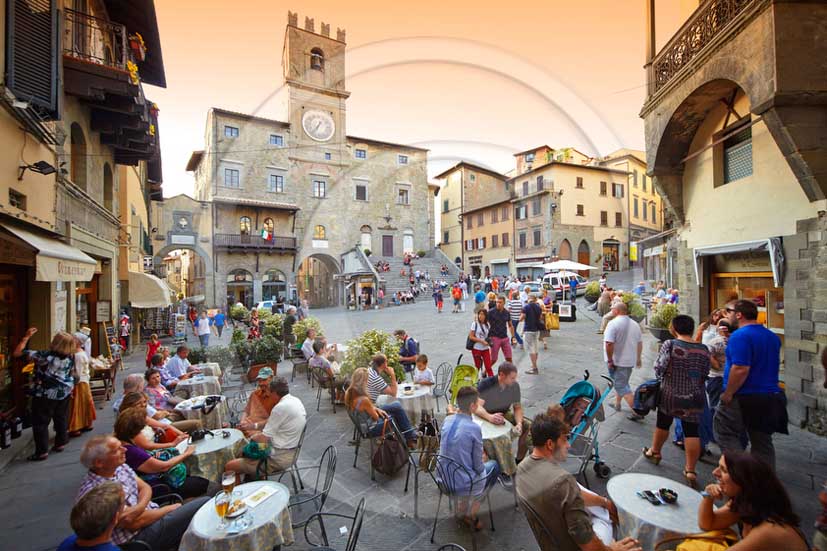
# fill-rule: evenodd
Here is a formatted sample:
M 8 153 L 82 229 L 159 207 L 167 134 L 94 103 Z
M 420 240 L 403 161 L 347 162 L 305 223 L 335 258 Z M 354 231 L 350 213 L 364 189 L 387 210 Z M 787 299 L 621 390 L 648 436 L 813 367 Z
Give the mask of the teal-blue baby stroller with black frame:
M 601 377 L 609 383 L 602 395 L 600 389 L 589 382 L 589 372 L 586 370 L 583 380 L 574 383 L 560 400 L 560 405 L 566 413 L 566 422 L 571 427 L 569 457 L 580 460 L 577 476 L 583 475 L 586 487 L 589 486 L 586 467 L 590 461 L 594 461 L 594 472 L 598 477 L 608 478 L 612 472 L 609 466 L 600 460 L 597 434 L 600 423 L 606 418 L 603 413 L 603 400 L 609 395 L 614 383 L 605 375 Z

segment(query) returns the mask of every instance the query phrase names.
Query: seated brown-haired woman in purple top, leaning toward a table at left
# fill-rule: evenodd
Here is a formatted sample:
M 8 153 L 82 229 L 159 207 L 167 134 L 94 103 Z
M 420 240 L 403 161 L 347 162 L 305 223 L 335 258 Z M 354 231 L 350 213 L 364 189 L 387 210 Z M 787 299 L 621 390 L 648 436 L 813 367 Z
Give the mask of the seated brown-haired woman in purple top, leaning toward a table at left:
M 136 444 L 139 441 L 136 437 L 141 434 L 143 428 L 144 416 L 137 408 L 124 411 L 115 421 L 115 437 L 126 447 L 126 464 L 150 486 L 166 484 L 184 499 L 205 495 L 209 490 L 210 481 L 200 476 L 187 475 L 187 467 L 184 465 L 184 460 L 195 452 L 195 446 L 187 446 L 184 453 L 168 459 L 156 458 Z M 156 450 L 155 453 L 159 452 Z M 166 453 L 159 455 L 168 456 Z

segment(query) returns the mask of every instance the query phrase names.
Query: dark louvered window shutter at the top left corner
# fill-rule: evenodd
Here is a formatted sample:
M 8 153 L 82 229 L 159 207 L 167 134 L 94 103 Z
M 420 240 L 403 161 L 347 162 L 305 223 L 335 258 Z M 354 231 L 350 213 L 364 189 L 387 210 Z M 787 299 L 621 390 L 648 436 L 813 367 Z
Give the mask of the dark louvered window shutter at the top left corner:
M 6 2 L 6 86 L 45 120 L 60 119 L 57 0 Z

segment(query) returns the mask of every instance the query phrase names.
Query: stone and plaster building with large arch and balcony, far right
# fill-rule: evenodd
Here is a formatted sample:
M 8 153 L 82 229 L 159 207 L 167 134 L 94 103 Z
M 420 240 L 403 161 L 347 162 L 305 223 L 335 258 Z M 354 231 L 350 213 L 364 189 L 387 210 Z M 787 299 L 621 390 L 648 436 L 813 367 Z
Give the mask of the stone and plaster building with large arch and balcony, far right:
M 651 21 L 647 166 L 675 222 L 681 309 L 754 300 L 782 339 L 791 422 L 825 433 L 827 74 L 797 60 L 827 57 L 827 5 L 731 4 L 702 3 L 657 53 Z

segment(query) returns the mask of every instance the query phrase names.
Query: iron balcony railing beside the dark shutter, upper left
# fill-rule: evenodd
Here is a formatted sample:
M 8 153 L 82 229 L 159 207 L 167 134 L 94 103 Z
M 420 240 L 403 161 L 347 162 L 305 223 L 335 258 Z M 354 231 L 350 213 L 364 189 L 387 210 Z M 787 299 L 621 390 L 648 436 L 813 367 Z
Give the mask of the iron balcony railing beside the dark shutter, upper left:
M 63 54 L 126 71 L 129 60 L 126 26 L 88 13 L 65 9 Z

